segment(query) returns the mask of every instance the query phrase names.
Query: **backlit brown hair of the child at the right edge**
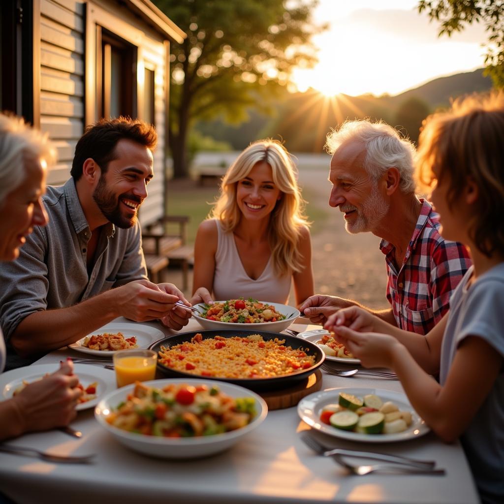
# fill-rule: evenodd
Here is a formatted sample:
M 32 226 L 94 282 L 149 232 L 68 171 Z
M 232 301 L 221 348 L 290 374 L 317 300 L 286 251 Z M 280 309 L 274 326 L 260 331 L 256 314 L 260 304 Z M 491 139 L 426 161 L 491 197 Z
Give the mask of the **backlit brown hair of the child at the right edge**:
M 448 111 L 429 115 L 422 125 L 416 178 L 430 188 L 432 168 L 439 181 L 449 177 L 451 208 L 474 181 L 479 198 L 469 221 L 469 236 L 482 254 L 504 257 L 504 93 L 473 95 L 456 100 Z

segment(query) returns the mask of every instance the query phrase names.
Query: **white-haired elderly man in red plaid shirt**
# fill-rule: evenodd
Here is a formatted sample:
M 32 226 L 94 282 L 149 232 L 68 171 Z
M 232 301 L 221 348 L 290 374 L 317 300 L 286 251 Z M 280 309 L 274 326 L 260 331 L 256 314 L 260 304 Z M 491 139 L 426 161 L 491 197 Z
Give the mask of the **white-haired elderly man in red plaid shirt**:
M 338 309 L 357 305 L 401 329 L 426 334 L 447 312 L 471 261 L 462 244 L 440 236 L 438 215 L 415 194 L 413 144 L 388 124 L 360 120 L 333 130 L 326 149 L 333 156 L 329 205 L 344 214 L 348 233 L 382 238 L 391 307 L 371 310 L 319 294 L 301 304 L 301 313 L 324 324 Z

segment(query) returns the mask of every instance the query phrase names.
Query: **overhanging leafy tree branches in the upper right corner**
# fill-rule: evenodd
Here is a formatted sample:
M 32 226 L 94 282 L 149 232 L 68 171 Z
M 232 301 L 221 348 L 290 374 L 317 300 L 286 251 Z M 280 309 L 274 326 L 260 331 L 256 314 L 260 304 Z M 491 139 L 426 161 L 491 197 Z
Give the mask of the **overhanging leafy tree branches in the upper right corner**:
M 466 24 L 482 22 L 488 32 L 486 73 L 496 88 L 504 88 L 504 1 L 503 0 L 422 0 L 418 12 L 440 21 L 439 36 L 460 32 Z

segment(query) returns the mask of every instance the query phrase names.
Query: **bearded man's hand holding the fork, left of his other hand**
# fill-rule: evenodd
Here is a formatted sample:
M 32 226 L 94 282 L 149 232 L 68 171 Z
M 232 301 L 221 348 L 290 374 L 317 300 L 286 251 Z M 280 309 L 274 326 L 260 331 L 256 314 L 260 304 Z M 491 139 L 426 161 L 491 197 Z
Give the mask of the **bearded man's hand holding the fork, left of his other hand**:
M 174 285 L 158 286 L 148 280 L 135 280 L 109 292 L 116 312 L 136 322 L 166 317 L 179 299 L 187 303 L 183 294 Z

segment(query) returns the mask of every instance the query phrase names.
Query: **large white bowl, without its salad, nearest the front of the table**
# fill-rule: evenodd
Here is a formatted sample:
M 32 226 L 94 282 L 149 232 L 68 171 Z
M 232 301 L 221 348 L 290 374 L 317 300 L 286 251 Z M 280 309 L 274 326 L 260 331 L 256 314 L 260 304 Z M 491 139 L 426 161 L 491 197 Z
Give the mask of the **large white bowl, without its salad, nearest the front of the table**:
M 248 434 L 250 431 L 259 427 L 268 413 L 268 406 L 263 398 L 251 392 L 250 390 L 233 385 L 230 383 L 217 382 L 214 380 L 201 380 L 201 379 L 165 379 L 165 380 L 152 380 L 144 382 L 145 385 L 163 388 L 169 384 L 186 384 L 186 385 L 213 385 L 233 398 L 237 397 L 251 397 L 256 401 L 256 416 L 245 427 L 240 429 L 224 432 L 223 434 L 215 434 L 210 436 L 198 437 L 158 437 L 148 436 L 145 434 L 137 434 L 128 432 L 126 430 L 118 429 L 110 425 L 106 421 L 106 417 L 110 414 L 111 408 L 115 408 L 118 404 L 124 401 L 128 394 L 133 392 L 134 385 L 121 387 L 114 392 L 105 396 L 95 408 L 95 418 L 98 420 L 105 430 L 112 434 L 119 443 L 131 448 L 137 452 L 152 457 L 167 458 L 167 459 L 191 459 L 197 457 L 206 457 L 222 452 L 233 446 L 241 437 Z

